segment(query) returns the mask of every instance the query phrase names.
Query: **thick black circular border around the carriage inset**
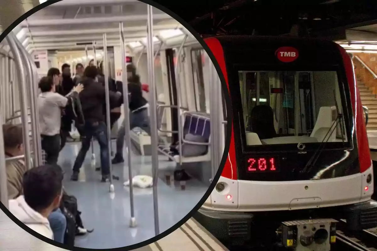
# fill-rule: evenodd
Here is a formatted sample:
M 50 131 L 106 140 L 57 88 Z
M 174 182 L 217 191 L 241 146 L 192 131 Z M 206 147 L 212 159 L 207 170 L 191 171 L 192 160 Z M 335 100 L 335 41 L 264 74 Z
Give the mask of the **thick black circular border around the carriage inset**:
M 40 5 L 38 5 L 36 7 L 34 7 L 33 9 L 29 10 L 28 12 L 23 14 L 21 17 L 17 18 L 17 20 L 15 20 L 9 27 L 7 27 L 3 31 L 3 33 L 0 35 L 0 43 L 5 39 L 5 37 L 8 35 L 8 33 L 12 32 L 12 30 L 18 24 L 20 24 L 23 20 L 28 18 L 30 15 L 34 14 L 37 11 L 40 11 L 41 9 L 43 9 L 43 8 L 49 6 L 49 5 L 52 5 L 52 4 L 60 2 L 60 1 L 64 1 L 64 0 L 48 0 L 44 3 L 41 3 Z M 229 152 L 229 147 L 230 147 L 231 125 L 232 125 L 232 119 L 231 118 L 233 117 L 233 113 L 232 113 L 232 109 L 231 109 L 231 101 L 230 101 L 230 96 L 229 96 L 229 92 L 228 92 L 228 87 L 227 87 L 227 84 L 225 82 L 224 75 L 222 74 L 221 68 L 220 68 L 218 62 L 216 61 L 215 56 L 213 55 L 213 53 L 211 52 L 211 50 L 209 49 L 207 44 L 204 42 L 203 38 L 201 38 L 201 36 L 189 25 L 189 23 L 184 21 L 181 17 L 176 15 L 174 12 L 170 11 L 168 8 L 165 8 L 164 6 L 153 2 L 152 0 L 138 0 L 138 1 L 146 3 L 148 5 L 152 5 L 153 7 L 158 8 L 161 11 L 164 11 L 166 14 L 170 15 L 172 18 L 177 20 L 187 30 L 189 30 L 189 32 L 196 38 L 196 40 L 198 40 L 198 42 L 201 44 L 203 49 L 207 52 L 207 54 L 210 57 L 213 65 L 216 68 L 216 71 L 219 75 L 219 78 L 220 78 L 220 81 L 221 81 L 221 84 L 222 84 L 222 89 L 223 89 L 222 91 L 224 93 L 225 105 L 226 105 L 226 109 L 227 109 L 227 134 L 226 134 L 227 137 L 225 139 L 225 148 L 224 148 L 224 153 L 223 153 L 222 158 L 221 158 L 220 166 L 218 168 L 218 171 L 217 171 L 215 177 L 213 178 L 211 185 L 208 187 L 207 192 L 205 192 L 204 196 L 198 202 L 198 204 L 196 204 L 195 207 L 193 207 L 193 209 L 184 218 L 182 218 L 180 221 L 178 221 L 175 225 L 170 227 L 168 230 L 158 234 L 155 237 L 152 237 L 148 240 L 145 240 L 143 242 L 139 242 L 139 243 L 136 243 L 136 244 L 133 244 L 133 245 L 130 245 L 130 246 L 119 247 L 119 248 L 111 248 L 110 250 L 126 251 L 126 250 L 133 250 L 133 249 L 141 248 L 143 246 L 147 246 L 147 245 L 149 245 L 153 242 L 156 242 L 159 239 L 162 239 L 165 236 L 171 234 L 173 231 L 177 230 L 181 225 L 183 225 L 185 222 L 187 222 L 190 218 L 192 218 L 193 214 L 195 214 L 196 211 L 199 210 L 199 208 L 204 204 L 205 200 L 210 196 L 211 192 L 215 188 L 215 185 L 216 185 L 217 181 L 219 180 L 219 178 L 221 176 L 222 169 L 225 166 L 225 161 L 228 158 L 228 152 Z M 21 221 L 19 221 L 11 212 L 9 212 L 9 210 L 1 202 L 0 202 L 0 209 L 12 221 L 14 221 L 19 227 L 21 227 L 23 230 L 25 230 L 29 234 L 32 234 L 33 236 L 37 237 L 38 239 L 43 240 L 46 243 L 49 243 L 51 245 L 57 246 L 59 248 L 64 248 L 64 249 L 67 249 L 67 250 L 101 250 L 101 249 L 79 248 L 79 247 L 74 247 L 73 249 L 71 249 L 72 247 L 70 247 L 70 246 L 66 246 L 62 243 L 55 242 L 54 240 L 51 240 L 51 239 L 49 239 L 49 238 L 47 238 L 47 237 L 45 237 L 41 234 L 38 234 L 37 232 L 35 232 L 33 230 L 31 230 L 31 228 L 26 227 L 26 225 L 23 224 Z

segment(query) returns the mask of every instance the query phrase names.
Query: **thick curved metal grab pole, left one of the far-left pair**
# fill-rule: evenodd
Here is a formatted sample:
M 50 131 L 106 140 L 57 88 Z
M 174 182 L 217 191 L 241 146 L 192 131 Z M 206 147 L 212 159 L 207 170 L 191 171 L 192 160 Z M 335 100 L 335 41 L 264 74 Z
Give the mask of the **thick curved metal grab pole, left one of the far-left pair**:
M 25 166 L 27 169 L 31 168 L 31 154 L 30 154 L 30 138 L 29 138 L 29 128 L 28 128 L 28 97 L 26 96 L 26 79 L 25 79 L 25 70 L 22 65 L 22 59 L 20 52 L 17 50 L 17 45 L 14 41 L 14 38 L 9 35 L 6 36 L 8 45 L 11 49 L 14 61 L 17 65 L 16 73 L 19 80 L 19 93 L 20 93 L 20 107 L 21 107 L 21 121 L 22 121 L 22 136 L 23 136 L 23 145 L 25 149 Z

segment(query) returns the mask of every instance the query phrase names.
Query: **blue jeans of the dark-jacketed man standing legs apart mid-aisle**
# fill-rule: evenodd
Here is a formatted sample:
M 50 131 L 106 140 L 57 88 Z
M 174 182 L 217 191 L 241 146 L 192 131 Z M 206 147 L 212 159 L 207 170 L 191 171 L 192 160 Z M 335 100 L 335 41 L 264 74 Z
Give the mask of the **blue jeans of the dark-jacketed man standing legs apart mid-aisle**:
M 109 164 L 109 144 L 107 142 L 107 126 L 104 122 L 85 122 L 84 126 L 84 138 L 81 142 L 81 149 L 73 166 L 74 172 L 80 172 L 80 168 L 83 165 L 86 153 L 90 149 L 90 143 L 92 137 L 95 137 L 100 144 L 101 151 L 101 171 L 102 175 L 110 174 Z

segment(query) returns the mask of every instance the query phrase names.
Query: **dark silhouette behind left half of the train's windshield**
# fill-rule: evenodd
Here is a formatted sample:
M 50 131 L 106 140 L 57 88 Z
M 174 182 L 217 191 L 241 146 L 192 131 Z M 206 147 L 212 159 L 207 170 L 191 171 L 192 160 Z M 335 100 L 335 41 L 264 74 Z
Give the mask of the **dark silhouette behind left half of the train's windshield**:
M 268 105 L 257 105 L 251 110 L 251 129 L 260 140 L 277 136 L 274 126 L 274 111 Z

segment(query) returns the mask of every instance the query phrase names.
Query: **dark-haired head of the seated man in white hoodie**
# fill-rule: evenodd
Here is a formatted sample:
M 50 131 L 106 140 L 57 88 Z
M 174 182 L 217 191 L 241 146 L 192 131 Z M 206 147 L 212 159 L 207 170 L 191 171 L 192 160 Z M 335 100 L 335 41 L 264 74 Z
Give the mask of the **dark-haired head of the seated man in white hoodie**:
M 63 172 L 58 165 L 34 167 L 23 175 L 22 188 L 29 207 L 46 217 L 60 205 Z

